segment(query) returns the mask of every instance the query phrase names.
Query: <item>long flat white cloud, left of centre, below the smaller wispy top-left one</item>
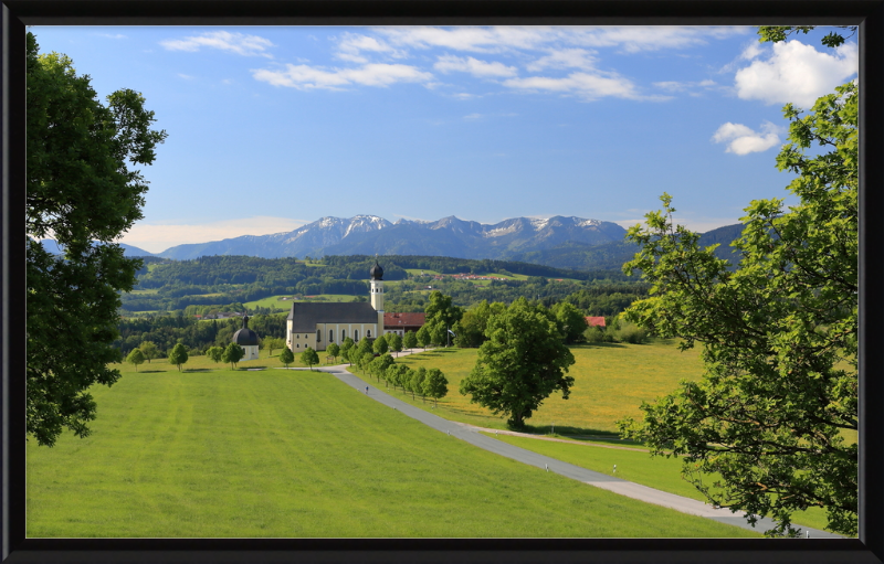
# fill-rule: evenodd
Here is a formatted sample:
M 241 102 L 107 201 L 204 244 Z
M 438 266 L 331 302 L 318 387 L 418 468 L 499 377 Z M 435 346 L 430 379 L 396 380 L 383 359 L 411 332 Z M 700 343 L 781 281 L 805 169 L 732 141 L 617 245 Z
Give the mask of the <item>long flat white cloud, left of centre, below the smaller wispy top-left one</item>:
M 252 76 L 273 86 L 288 86 L 298 89 L 340 89 L 360 84 L 364 86 L 389 86 L 400 82 L 427 82 L 433 75 L 414 66 L 368 64 L 358 68 L 335 68 L 324 71 L 307 65 L 285 65 L 285 70 L 253 70 Z

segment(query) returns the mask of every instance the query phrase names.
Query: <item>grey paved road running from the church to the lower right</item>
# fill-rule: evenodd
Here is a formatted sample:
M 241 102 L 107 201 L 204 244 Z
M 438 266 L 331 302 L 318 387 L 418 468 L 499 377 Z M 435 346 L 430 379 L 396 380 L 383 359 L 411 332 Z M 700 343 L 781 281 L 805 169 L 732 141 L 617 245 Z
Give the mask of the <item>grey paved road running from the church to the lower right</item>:
M 400 353 L 400 355 L 402 353 Z M 280 370 L 285 370 L 285 369 L 280 369 Z M 307 369 L 290 369 L 290 370 L 307 370 Z M 340 364 L 337 366 L 316 368 L 314 370 L 334 374 L 338 380 L 358 390 L 361 393 L 365 393 L 366 386 L 369 386 L 368 396 L 371 397 L 372 400 L 380 402 L 381 404 L 387 405 L 388 407 L 402 412 L 404 415 L 413 419 L 418 419 L 424 425 L 428 425 L 439 432 L 460 438 L 461 440 L 465 440 L 471 445 L 484 448 L 485 450 L 488 450 L 491 453 L 505 456 L 514 460 L 518 460 L 519 462 L 535 466 L 537 468 L 545 469 L 550 472 L 556 472 L 567 478 L 571 478 L 573 480 L 578 480 L 583 483 L 594 486 L 597 488 L 602 488 L 612 491 L 614 493 L 625 496 L 628 498 L 638 499 L 648 503 L 654 503 L 656 506 L 663 506 L 670 509 L 674 509 L 676 511 L 681 511 L 682 513 L 704 517 L 706 519 L 712 519 L 713 521 L 718 521 L 722 523 L 740 526 L 743 529 L 748 529 L 750 531 L 764 532 L 768 529 L 776 526 L 776 522 L 774 520 L 764 518 L 759 519 L 758 522 L 756 523 L 756 526 L 753 528 L 746 522 L 746 519 L 744 518 L 745 513 L 743 511 L 737 511 L 736 513 L 732 513 L 730 510 L 728 509 L 715 509 L 712 506 L 708 506 L 695 499 L 676 496 L 674 493 L 669 493 L 666 491 L 649 488 L 648 486 L 642 486 L 640 483 L 627 481 L 620 478 L 614 478 L 612 476 L 608 476 L 601 472 L 596 472 L 586 468 L 581 468 L 579 466 L 564 462 L 556 458 L 550 458 L 548 456 L 539 455 L 537 453 L 519 448 L 508 443 L 503 443 L 501 440 L 497 440 L 493 437 L 488 437 L 480 433 L 480 430 L 486 430 L 486 429 L 474 427 L 465 423 L 451 422 L 438 415 L 433 415 L 432 413 L 425 412 L 419 407 L 414 407 L 406 402 L 402 402 L 401 400 L 398 400 L 387 394 L 386 392 L 382 392 L 381 390 L 375 387 L 375 383 L 366 382 L 359 376 L 348 372 L 347 366 L 345 364 Z M 806 536 L 808 533 L 812 539 L 843 538 L 841 535 L 833 534 L 828 531 L 820 531 L 818 529 L 810 529 L 802 526 L 801 536 Z

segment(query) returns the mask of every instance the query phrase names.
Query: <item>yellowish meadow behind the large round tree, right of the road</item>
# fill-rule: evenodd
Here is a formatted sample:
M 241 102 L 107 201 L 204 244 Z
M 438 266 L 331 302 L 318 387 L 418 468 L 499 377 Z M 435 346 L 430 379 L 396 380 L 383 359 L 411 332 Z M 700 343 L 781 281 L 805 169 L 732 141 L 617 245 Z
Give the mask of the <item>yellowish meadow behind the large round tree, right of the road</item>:
M 506 428 L 505 419 L 488 409 L 471 404 L 457 392 L 461 380 L 473 369 L 477 349 L 431 349 L 398 362 L 412 368 L 438 368 L 449 380 L 449 395 L 439 401 L 439 415 L 463 423 L 491 428 Z M 703 372 L 696 350 L 680 352 L 672 341 L 651 344 L 599 343 L 571 348 L 576 363 L 569 375 L 575 384 L 568 400 L 560 394 L 549 396 L 528 419 L 537 432 L 548 432 L 555 424 L 564 435 L 610 434 L 615 422 L 624 416 L 641 415 L 642 401 L 675 390 L 680 380 L 698 379 Z M 401 394 L 400 394 L 401 397 Z M 418 397 L 418 406 L 427 406 Z

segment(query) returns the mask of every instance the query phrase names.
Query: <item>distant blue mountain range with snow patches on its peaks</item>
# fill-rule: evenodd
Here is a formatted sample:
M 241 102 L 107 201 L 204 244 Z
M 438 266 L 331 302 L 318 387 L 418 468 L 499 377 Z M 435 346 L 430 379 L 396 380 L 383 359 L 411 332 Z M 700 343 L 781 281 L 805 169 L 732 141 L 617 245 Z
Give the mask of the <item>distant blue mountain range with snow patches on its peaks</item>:
M 704 234 L 701 244 L 723 243 L 719 256 L 729 255 L 727 243 L 739 236 L 741 225 L 719 227 Z M 455 258 L 490 258 L 577 269 L 619 269 L 636 252 L 623 241 L 620 225 L 582 217 L 514 217 L 496 224 L 464 221 L 455 216 L 434 222 L 399 220 L 391 223 L 376 215 L 349 219 L 323 217 L 286 233 L 243 235 L 209 243 L 177 245 L 148 253 L 123 245 L 126 256 L 159 256 L 176 260 L 211 255 L 246 255 L 262 258 L 320 257 L 324 255 L 423 255 Z M 43 242 L 52 248 L 54 242 Z

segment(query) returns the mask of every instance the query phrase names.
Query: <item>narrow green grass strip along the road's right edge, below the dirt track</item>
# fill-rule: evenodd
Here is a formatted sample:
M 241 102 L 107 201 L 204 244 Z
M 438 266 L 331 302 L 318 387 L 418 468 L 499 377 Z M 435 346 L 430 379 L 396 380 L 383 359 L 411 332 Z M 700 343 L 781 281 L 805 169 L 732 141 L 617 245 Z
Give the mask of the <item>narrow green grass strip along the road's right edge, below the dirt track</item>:
M 491 434 L 491 436 L 494 436 Z M 648 451 L 635 451 L 615 448 L 600 448 L 586 443 L 557 443 L 539 440 L 536 438 L 514 437 L 507 435 L 496 436 L 498 440 L 518 447 L 550 456 L 582 468 L 597 472 L 617 476 L 624 480 L 634 481 L 643 486 L 655 488 L 685 498 L 705 501 L 705 498 L 686 480 L 682 479 L 682 461 L 676 458 L 654 457 Z M 613 466 L 617 465 L 617 472 Z M 712 483 L 716 476 L 704 477 L 704 482 Z M 825 511 L 820 508 L 809 508 L 807 511 L 794 513 L 792 520 L 797 524 L 825 528 Z

